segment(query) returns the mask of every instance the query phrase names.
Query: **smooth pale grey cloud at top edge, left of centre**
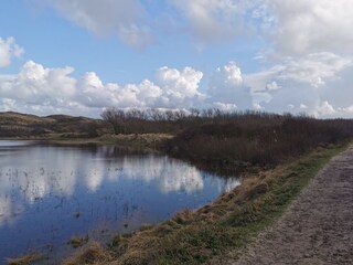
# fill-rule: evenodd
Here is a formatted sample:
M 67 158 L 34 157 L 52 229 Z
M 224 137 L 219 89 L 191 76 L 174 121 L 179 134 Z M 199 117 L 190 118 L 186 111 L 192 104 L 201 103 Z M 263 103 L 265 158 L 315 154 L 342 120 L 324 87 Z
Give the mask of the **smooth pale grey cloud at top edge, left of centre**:
M 147 13 L 138 0 L 39 0 L 89 32 L 117 35 L 124 43 L 143 49 L 153 42 Z

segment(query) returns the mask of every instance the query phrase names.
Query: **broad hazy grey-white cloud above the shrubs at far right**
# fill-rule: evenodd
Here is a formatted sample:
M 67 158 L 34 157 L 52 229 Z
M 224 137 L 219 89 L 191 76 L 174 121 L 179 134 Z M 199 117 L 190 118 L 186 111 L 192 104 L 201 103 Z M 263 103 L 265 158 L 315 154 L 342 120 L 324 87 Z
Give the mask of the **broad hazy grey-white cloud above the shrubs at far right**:
M 281 64 L 243 77 L 245 85 L 252 88 L 254 103 L 268 112 L 339 117 L 343 113 L 331 103 L 341 107 L 351 104 L 347 95 L 352 89 L 347 84 L 352 80 L 352 65 L 347 56 L 321 52 L 289 57 Z M 329 98 L 330 104 L 323 98 Z

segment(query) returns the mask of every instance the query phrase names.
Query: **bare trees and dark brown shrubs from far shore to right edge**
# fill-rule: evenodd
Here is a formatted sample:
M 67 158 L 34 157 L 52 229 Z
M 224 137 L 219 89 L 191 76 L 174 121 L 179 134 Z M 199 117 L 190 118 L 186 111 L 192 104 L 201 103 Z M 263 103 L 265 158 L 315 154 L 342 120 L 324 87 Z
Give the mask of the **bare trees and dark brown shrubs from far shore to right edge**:
M 231 174 L 234 169 L 274 167 L 320 146 L 353 139 L 353 120 L 307 115 L 108 108 L 101 117 L 115 134 L 173 134 L 161 147 L 164 151 Z

